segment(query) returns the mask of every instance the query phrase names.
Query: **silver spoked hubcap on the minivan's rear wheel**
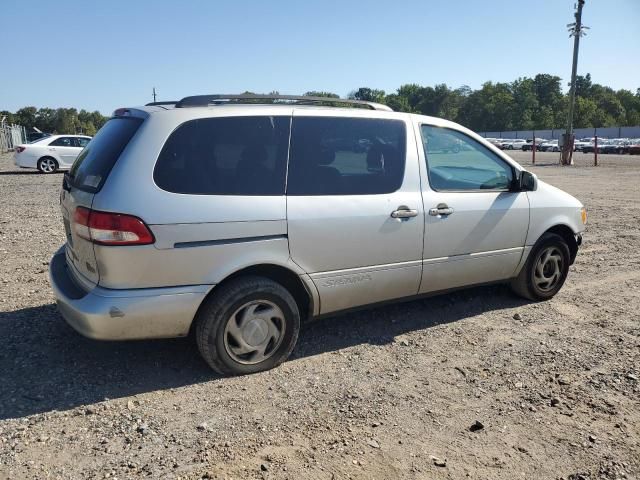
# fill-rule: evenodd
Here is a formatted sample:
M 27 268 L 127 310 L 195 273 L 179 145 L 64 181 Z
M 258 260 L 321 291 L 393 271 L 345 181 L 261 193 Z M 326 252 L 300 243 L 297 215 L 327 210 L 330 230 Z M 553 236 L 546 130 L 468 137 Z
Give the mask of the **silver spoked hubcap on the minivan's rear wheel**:
M 224 347 L 238 363 L 260 363 L 278 349 L 284 329 L 284 313 L 280 307 L 267 300 L 254 300 L 229 318 L 224 329 Z

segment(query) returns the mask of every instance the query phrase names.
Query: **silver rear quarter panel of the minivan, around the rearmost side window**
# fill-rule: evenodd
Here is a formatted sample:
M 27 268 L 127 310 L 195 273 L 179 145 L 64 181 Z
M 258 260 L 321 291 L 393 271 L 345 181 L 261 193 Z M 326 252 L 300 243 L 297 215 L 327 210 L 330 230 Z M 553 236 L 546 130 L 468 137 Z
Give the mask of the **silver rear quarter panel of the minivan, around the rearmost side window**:
M 183 122 L 224 116 L 290 116 L 290 108 L 185 108 L 156 112 L 116 163 L 95 210 L 143 219 L 155 236 L 147 246 L 95 246 L 100 285 L 147 288 L 215 284 L 246 266 L 289 261 L 285 196 L 189 195 L 159 188 L 156 160 Z M 302 272 L 300 272 L 302 273 Z

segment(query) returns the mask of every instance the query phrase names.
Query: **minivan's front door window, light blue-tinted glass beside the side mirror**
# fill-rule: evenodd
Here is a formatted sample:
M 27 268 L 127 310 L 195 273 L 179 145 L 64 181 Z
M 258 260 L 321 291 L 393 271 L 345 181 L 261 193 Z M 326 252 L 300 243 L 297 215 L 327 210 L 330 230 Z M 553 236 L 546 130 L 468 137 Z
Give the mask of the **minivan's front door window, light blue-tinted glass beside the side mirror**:
M 429 184 L 434 190 L 508 190 L 513 169 L 471 137 L 448 128 L 423 125 Z

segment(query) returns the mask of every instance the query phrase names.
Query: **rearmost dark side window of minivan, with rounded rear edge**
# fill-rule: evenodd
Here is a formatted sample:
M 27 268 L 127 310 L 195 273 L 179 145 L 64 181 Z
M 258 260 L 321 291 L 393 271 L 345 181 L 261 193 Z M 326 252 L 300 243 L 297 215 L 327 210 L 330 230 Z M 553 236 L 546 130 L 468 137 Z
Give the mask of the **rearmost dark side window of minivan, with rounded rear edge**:
M 284 195 L 291 117 L 191 120 L 167 139 L 153 178 L 169 192 Z

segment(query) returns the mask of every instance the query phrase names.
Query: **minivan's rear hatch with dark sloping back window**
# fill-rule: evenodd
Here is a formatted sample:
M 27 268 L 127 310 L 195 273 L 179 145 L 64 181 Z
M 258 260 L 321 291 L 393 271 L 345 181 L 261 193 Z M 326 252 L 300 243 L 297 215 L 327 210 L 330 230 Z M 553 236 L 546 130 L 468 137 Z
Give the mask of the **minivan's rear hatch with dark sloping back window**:
M 124 114 L 129 112 L 129 114 Z M 95 286 L 100 280 L 93 243 L 78 231 L 86 209 L 91 209 L 93 198 L 100 191 L 113 166 L 138 131 L 144 118 L 133 116 L 130 110 L 117 110 L 95 137 L 82 150 L 68 173 L 65 174 L 60 194 L 60 205 L 67 243 L 67 264 L 72 266 L 77 280 L 85 286 Z M 119 115 L 120 113 L 120 115 Z M 146 115 L 144 112 L 137 112 Z

